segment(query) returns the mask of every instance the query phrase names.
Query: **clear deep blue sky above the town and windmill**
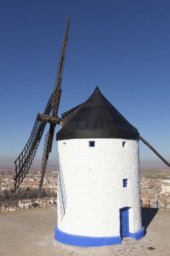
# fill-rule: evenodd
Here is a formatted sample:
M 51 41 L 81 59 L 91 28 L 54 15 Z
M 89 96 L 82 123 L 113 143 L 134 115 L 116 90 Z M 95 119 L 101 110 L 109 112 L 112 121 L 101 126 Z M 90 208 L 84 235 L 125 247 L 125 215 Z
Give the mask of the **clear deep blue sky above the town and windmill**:
M 169 13 L 169 0 L 1 1 L 0 167 L 12 166 L 37 113 L 44 111 L 68 16 L 59 114 L 87 100 L 99 86 L 140 135 L 170 160 Z M 42 138 L 35 163 L 43 146 Z M 56 152 L 54 138 L 50 162 L 56 162 Z M 167 168 L 142 142 L 140 163 Z

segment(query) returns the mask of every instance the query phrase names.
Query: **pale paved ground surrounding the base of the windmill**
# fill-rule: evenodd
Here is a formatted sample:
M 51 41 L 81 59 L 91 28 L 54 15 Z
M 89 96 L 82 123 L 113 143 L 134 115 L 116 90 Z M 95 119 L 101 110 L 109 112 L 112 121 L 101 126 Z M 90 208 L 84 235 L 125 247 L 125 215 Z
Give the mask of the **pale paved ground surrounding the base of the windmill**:
M 143 209 L 146 236 L 124 238 L 122 245 L 71 247 L 54 240 L 56 209 L 40 208 L 0 214 L 0 255 L 3 256 L 143 256 L 170 255 L 170 211 Z M 149 250 L 148 247 L 153 247 Z

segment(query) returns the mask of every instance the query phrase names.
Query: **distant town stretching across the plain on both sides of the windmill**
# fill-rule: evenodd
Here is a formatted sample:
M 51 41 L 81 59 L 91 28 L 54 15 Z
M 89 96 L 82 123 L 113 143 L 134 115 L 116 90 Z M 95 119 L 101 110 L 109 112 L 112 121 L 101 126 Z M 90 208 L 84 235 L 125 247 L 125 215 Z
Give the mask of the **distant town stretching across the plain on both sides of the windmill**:
M 41 168 L 32 168 L 23 183 L 17 189 L 14 197 L 14 171 L 10 168 L 0 168 L 0 203 L 13 199 L 32 199 L 47 195 L 56 196 L 56 168 L 48 168 L 44 177 L 41 195 L 38 194 Z M 170 209 L 170 172 L 166 170 L 140 170 L 140 198 L 142 207 L 163 207 Z

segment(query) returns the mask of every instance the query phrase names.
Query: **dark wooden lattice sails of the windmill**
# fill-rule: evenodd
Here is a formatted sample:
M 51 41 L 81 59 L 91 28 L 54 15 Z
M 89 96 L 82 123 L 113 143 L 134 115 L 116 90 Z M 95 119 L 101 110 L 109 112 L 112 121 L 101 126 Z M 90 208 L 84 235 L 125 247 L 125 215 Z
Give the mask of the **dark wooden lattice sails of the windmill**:
M 38 149 L 40 140 L 42 138 L 44 128 L 46 127 L 46 123 L 49 121 L 50 129 L 49 129 L 48 135 L 46 136 L 46 139 L 45 139 L 44 152 L 43 152 L 43 157 L 42 157 L 42 171 L 41 171 L 39 189 L 42 188 L 44 174 L 46 172 L 46 165 L 48 162 L 48 156 L 52 149 L 52 140 L 54 137 L 54 129 L 58 122 L 58 121 L 54 122 L 54 118 L 57 119 L 58 108 L 59 108 L 59 103 L 60 103 L 60 95 L 61 95 L 60 86 L 61 86 L 61 82 L 62 82 L 62 73 L 63 73 L 63 69 L 65 66 L 65 55 L 66 55 L 66 51 L 67 51 L 69 24 L 70 24 L 70 18 L 68 18 L 68 21 L 67 21 L 67 29 L 65 32 L 65 38 L 62 43 L 62 49 L 61 49 L 61 53 L 60 53 L 60 59 L 58 62 L 58 69 L 57 69 L 57 73 L 56 73 L 54 91 L 52 92 L 52 94 L 48 100 L 48 103 L 46 105 L 46 108 L 44 110 L 44 115 L 46 115 L 46 117 L 49 117 L 49 120 L 43 119 L 43 117 L 40 119 L 40 114 L 38 114 L 36 121 L 34 123 L 34 127 L 32 129 L 32 133 L 30 135 L 30 138 L 28 139 L 28 142 L 26 143 L 26 146 L 24 147 L 24 150 L 22 151 L 22 153 L 18 156 L 18 158 L 14 162 L 15 163 L 15 178 L 13 180 L 15 181 L 15 185 L 14 185 L 13 191 L 15 191 L 19 187 L 19 185 L 22 183 L 22 181 L 26 177 L 26 174 L 28 173 L 28 170 L 30 169 L 30 166 L 34 160 L 34 156 L 36 155 L 36 151 Z M 54 117 L 53 119 L 50 119 L 51 112 L 52 112 L 51 117 Z

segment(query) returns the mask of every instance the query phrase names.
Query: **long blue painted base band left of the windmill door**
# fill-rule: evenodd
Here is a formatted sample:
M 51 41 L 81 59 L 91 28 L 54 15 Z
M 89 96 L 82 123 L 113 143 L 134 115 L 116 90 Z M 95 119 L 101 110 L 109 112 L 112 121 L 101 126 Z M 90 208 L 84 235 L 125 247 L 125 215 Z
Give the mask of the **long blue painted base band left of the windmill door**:
M 94 236 L 78 236 L 75 234 L 68 234 L 62 232 L 55 227 L 56 241 L 64 243 L 66 245 L 75 245 L 80 247 L 99 247 L 102 245 L 119 245 L 122 244 L 122 238 L 120 236 L 104 236 L 104 237 L 94 237 Z

